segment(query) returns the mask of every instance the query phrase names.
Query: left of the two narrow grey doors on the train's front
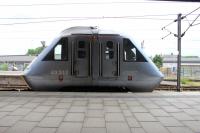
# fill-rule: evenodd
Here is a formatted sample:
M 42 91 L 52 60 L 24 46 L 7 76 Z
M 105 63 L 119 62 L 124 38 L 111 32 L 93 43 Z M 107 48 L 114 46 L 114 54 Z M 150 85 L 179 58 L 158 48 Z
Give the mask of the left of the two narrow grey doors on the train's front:
M 73 75 L 88 77 L 91 75 L 91 42 L 89 36 L 75 37 L 73 42 Z

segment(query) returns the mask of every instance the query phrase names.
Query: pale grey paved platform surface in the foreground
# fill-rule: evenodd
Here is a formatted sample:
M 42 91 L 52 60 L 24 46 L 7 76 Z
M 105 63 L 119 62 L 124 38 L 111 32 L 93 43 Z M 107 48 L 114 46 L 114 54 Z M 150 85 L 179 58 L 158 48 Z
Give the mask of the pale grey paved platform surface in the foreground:
M 0 91 L 0 133 L 200 133 L 200 92 Z

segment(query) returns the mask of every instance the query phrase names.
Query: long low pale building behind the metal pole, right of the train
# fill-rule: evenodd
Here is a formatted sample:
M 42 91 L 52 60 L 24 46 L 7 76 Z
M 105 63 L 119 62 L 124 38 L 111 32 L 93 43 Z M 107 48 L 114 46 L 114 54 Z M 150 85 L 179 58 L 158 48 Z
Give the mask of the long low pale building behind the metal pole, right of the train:
M 177 56 L 164 55 L 163 69 L 167 70 L 167 74 L 176 74 Z M 188 56 L 181 57 L 181 75 L 185 77 L 200 77 L 200 57 Z

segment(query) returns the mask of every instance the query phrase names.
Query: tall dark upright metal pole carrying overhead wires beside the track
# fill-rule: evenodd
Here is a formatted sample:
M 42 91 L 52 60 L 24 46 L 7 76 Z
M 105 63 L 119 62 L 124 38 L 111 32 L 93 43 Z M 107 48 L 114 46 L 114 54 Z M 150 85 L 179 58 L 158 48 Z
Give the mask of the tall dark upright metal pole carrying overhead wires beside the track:
M 177 91 L 181 91 L 181 14 L 178 14 Z

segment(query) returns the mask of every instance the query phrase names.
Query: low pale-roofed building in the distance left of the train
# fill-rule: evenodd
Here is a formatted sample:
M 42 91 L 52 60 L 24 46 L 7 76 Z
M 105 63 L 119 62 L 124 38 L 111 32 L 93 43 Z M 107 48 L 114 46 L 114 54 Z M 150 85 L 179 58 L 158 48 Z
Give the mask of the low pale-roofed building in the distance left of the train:
M 27 55 L 1 55 L 0 70 L 23 71 L 34 58 Z

